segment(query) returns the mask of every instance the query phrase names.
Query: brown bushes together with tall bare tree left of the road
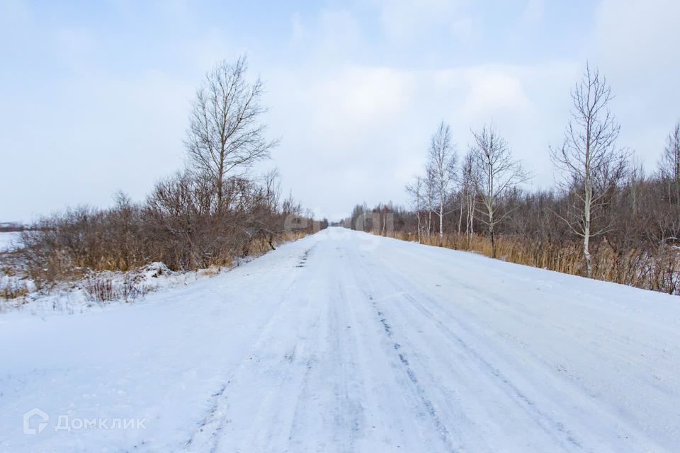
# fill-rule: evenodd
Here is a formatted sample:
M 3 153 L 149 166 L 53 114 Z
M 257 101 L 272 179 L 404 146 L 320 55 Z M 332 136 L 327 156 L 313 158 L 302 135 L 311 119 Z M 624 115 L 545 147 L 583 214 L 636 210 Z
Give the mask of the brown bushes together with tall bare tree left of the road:
M 292 197 L 283 199 L 276 171 L 250 176 L 277 142 L 265 138 L 262 84 L 250 83 L 246 68 L 239 58 L 206 75 L 190 116 L 188 165 L 159 181 L 145 201 L 119 193 L 110 209 L 80 207 L 25 231 L 19 253 L 30 277 L 46 282 L 157 261 L 172 270 L 229 265 L 325 228 Z

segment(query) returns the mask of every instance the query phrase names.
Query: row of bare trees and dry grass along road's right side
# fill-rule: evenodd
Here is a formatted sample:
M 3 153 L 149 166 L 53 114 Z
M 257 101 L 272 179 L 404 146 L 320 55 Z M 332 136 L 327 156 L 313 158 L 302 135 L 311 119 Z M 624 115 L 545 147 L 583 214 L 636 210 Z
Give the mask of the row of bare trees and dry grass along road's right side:
M 407 185 L 410 206 L 357 205 L 346 225 L 679 294 L 680 122 L 646 174 L 617 146 L 611 88 L 598 71 L 587 67 L 572 100 L 565 139 L 549 150 L 555 188 L 526 188 L 530 175 L 494 125 L 473 131 L 459 159 L 442 123 L 424 172 Z

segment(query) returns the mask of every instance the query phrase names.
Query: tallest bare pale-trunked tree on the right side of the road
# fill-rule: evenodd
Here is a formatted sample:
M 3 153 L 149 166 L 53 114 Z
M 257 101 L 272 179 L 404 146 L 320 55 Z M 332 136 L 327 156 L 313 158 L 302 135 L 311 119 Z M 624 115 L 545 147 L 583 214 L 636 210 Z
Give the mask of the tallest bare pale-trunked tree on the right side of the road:
M 583 78 L 572 90 L 574 110 L 565 142 L 560 148 L 550 148 L 553 162 L 562 171 L 562 187 L 574 195 L 571 209 L 560 217 L 583 239 L 588 277 L 593 275 L 591 237 L 611 229 L 611 221 L 601 215 L 601 208 L 625 176 L 628 162 L 628 151 L 616 148 L 621 127 L 608 110 L 611 98 L 604 76 L 587 65 Z

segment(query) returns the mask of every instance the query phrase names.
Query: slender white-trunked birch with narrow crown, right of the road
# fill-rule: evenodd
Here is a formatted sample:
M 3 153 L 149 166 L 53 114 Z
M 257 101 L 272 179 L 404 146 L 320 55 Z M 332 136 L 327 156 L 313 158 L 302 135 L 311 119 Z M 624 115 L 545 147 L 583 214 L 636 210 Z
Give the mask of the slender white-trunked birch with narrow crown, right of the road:
M 427 161 L 427 172 L 431 176 L 436 197 L 435 214 L 439 217 L 439 246 L 444 236 L 444 211 L 450 191 L 455 180 L 456 152 L 451 143 L 450 127 L 442 121 L 433 134 Z

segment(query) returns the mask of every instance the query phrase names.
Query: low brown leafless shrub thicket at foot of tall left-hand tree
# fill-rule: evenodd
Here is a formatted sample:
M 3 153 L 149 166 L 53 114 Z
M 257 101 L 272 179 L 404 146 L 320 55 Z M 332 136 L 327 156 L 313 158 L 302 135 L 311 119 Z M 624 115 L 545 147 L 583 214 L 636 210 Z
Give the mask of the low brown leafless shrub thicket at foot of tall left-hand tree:
M 272 200 L 271 193 L 254 181 L 232 178 L 219 207 L 210 183 L 178 173 L 158 183 L 142 205 L 118 195 L 108 210 L 79 207 L 41 219 L 23 232 L 17 253 L 29 276 L 48 286 L 78 280 L 89 270 L 128 271 L 152 262 L 170 270 L 228 266 L 318 227 L 300 214 L 299 205 Z M 287 229 L 290 216 L 305 226 Z M 93 294 L 106 292 L 91 286 Z

